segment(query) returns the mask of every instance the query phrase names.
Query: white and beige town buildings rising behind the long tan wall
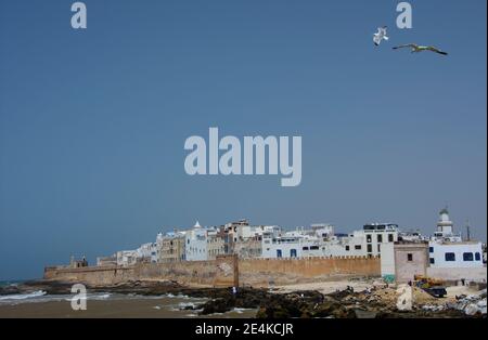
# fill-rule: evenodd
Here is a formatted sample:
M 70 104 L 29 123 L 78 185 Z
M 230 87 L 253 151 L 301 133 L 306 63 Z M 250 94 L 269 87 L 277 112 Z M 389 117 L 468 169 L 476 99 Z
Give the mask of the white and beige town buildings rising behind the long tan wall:
M 81 265 L 128 266 L 138 263 L 207 261 L 216 260 L 218 256 L 236 256 L 244 260 L 388 257 L 388 247 L 397 241 L 428 243 L 433 249 L 449 249 L 458 245 L 463 251 L 476 253 L 476 261 L 474 256 L 470 261 L 461 261 L 461 252 L 458 249 L 459 263 L 454 266 L 480 267 L 486 262 L 486 244 L 473 237 L 470 224 L 464 232 L 455 228 L 449 209 L 445 207 L 439 210 L 435 228 L 427 234 L 418 228 L 401 228 L 395 223 L 378 222 L 367 223 L 359 230 L 343 233 L 330 223 L 313 223 L 285 230 L 280 225 L 251 223 L 246 219 L 213 226 L 205 226 L 196 221 L 192 227 L 159 232 L 155 239 L 140 245 L 137 249 L 119 249 L 113 254 L 98 257 L 95 263 L 90 264 L 82 257 Z M 431 251 L 431 265 L 441 265 L 446 251 L 449 250 Z M 75 258 L 72 257 L 69 265 L 73 265 L 74 261 Z M 453 265 L 452 261 L 446 264 Z

